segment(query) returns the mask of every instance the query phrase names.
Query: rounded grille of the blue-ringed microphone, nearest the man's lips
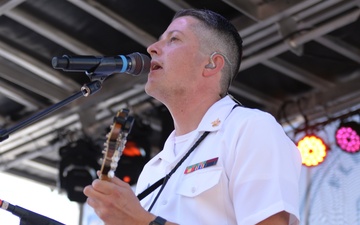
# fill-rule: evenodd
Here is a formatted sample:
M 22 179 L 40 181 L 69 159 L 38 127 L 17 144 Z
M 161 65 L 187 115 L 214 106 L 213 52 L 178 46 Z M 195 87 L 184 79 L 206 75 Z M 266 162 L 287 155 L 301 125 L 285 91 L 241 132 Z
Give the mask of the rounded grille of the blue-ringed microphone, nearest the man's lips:
M 131 70 L 128 72 L 134 76 L 148 75 L 150 72 L 150 57 L 139 52 L 128 55 L 131 59 Z

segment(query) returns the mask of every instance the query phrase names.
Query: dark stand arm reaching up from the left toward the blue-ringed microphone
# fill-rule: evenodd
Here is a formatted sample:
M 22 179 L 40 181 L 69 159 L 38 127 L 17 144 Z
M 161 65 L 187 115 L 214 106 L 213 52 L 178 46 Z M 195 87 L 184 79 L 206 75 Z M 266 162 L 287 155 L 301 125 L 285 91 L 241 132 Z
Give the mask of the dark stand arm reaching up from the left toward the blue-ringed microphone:
M 50 106 L 49 108 L 47 108 L 43 111 L 40 111 L 39 113 L 33 115 L 32 117 L 30 117 L 24 121 L 21 121 L 19 124 L 15 124 L 14 126 L 10 127 L 9 129 L 0 129 L 0 142 L 9 138 L 9 134 L 43 118 L 44 116 L 54 112 L 57 109 L 60 109 L 61 107 L 69 104 L 70 102 L 75 101 L 76 99 L 78 99 L 82 96 L 87 97 L 91 94 L 94 94 L 95 92 L 100 90 L 101 85 L 102 85 L 102 82 L 100 80 L 91 81 L 90 83 L 82 86 L 81 90 L 79 92 L 75 93 L 74 95 Z

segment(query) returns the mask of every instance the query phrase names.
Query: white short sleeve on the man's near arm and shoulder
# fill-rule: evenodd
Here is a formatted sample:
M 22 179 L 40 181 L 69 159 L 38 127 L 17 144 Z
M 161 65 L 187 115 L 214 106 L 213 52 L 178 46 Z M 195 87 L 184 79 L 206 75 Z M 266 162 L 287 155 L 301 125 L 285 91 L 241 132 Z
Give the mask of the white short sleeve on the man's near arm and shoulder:
M 289 224 L 299 224 L 301 158 L 282 127 L 260 114 L 232 137 L 226 170 L 238 224 L 256 224 L 283 210 L 291 215 Z

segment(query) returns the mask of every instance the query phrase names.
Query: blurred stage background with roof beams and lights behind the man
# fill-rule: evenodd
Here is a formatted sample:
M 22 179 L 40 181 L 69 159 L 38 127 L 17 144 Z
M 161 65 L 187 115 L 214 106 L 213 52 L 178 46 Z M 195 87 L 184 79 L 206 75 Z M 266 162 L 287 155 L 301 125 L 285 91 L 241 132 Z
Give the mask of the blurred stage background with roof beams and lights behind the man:
M 101 224 L 82 188 L 101 165 L 113 117 L 127 108 L 135 119 L 116 172 L 133 186 L 172 121 L 144 92 L 146 76 L 111 74 L 84 96 L 98 78 L 54 69 L 52 58 L 147 54 L 175 11 L 206 8 L 243 37 L 230 94 L 271 113 L 299 146 L 301 224 L 360 224 L 359 7 L 359 0 L 0 1 L 0 199 L 68 225 Z M 1 224 L 9 218 L 19 224 L 0 212 Z

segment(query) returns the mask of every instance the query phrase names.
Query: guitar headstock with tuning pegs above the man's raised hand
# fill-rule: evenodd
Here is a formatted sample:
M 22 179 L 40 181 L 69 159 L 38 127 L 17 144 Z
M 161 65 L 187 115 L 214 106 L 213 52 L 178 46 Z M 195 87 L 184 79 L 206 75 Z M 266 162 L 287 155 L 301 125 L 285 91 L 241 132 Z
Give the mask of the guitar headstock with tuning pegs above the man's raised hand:
M 104 143 L 103 162 L 100 169 L 100 179 L 110 180 L 115 173 L 118 161 L 124 150 L 127 135 L 130 133 L 134 118 L 129 116 L 128 109 L 122 109 L 114 117 L 111 130 Z

